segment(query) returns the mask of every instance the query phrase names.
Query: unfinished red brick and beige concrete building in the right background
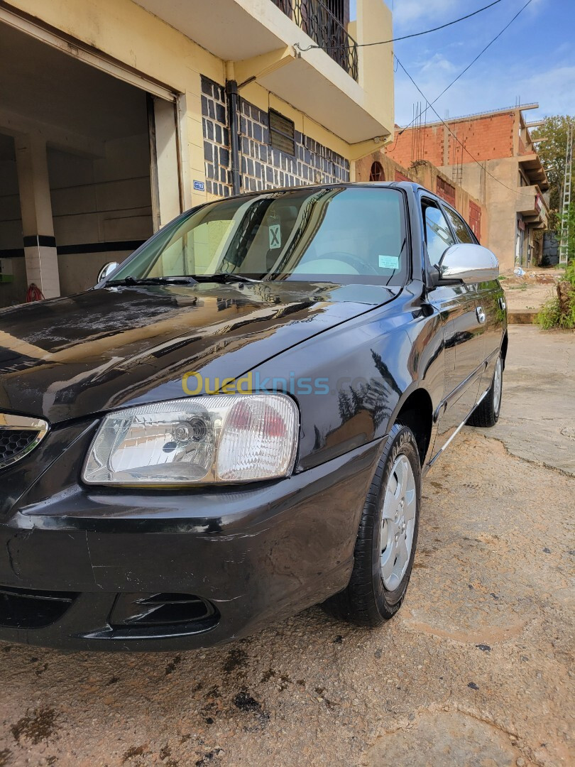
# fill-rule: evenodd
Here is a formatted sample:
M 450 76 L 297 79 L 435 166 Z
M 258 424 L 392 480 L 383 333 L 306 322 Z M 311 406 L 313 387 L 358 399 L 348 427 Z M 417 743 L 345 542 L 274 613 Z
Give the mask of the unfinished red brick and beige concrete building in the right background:
M 461 186 L 485 206 L 481 244 L 498 255 L 502 271 L 536 265 L 543 256 L 549 206 L 547 176 L 524 110 L 538 104 L 427 123 L 396 132 L 386 154 L 403 166 L 431 163 L 449 186 Z M 444 191 L 445 196 L 445 191 Z M 447 199 L 447 198 L 446 198 Z M 470 208 L 468 221 L 475 215 Z

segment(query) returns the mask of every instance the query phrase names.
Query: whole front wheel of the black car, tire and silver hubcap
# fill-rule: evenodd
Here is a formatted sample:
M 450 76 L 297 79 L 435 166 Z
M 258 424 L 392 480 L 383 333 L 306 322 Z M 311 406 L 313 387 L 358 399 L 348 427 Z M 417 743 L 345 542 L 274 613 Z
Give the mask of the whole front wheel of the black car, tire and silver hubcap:
M 416 554 L 420 503 L 416 439 L 398 423 L 389 433 L 363 507 L 350 582 L 324 603 L 330 614 L 363 626 L 379 626 L 396 614 Z

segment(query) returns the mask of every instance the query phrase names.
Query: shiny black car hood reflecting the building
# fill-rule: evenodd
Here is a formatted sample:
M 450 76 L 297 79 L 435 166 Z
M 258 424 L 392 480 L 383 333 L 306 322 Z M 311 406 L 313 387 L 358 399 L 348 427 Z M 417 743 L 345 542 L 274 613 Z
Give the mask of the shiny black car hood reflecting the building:
M 51 423 L 237 378 L 391 301 L 399 288 L 262 282 L 130 286 L 0 311 L 0 412 Z

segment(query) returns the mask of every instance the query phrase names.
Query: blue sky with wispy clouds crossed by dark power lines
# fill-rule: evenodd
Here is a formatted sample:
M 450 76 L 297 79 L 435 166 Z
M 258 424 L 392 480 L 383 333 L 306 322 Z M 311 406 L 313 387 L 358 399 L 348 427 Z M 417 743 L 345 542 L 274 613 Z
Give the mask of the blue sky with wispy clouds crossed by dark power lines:
M 393 9 L 393 35 L 409 35 L 471 13 L 490 0 L 386 0 Z M 526 0 L 501 0 L 493 8 L 412 40 L 393 44 L 399 61 L 429 100 L 435 99 L 475 58 Z M 355 18 L 351 0 L 351 18 Z M 413 104 L 424 101 L 398 67 L 396 123 L 412 120 Z M 575 116 L 575 0 L 531 0 L 508 30 L 442 96 L 440 117 L 458 117 L 537 102 L 527 120 L 554 114 Z M 428 112 L 428 122 L 438 118 Z

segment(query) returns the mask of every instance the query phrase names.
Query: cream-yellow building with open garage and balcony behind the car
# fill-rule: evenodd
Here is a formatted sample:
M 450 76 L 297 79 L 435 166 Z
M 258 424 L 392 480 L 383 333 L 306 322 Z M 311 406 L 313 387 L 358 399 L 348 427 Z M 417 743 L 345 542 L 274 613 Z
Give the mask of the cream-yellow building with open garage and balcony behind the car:
M 393 135 L 383 0 L 0 6 L 0 307 L 94 285 L 243 191 L 353 180 Z

